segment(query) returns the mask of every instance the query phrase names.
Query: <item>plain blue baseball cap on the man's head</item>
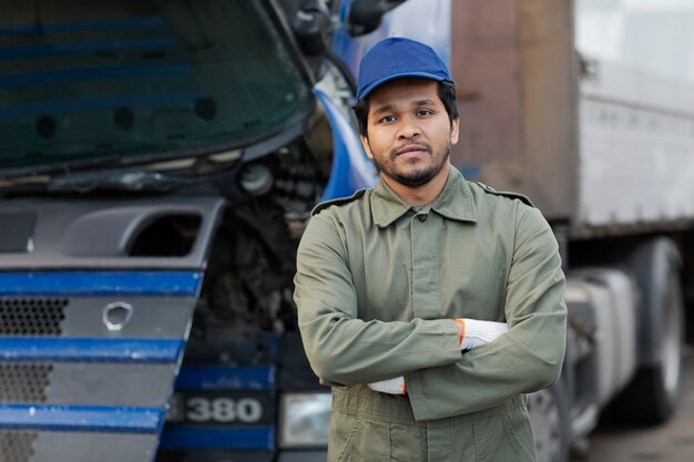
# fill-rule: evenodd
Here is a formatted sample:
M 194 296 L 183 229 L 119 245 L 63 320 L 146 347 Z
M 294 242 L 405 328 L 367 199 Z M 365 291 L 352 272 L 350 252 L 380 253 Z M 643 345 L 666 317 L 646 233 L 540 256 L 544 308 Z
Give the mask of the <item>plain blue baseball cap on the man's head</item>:
M 382 83 L 408 76 L 455 83 L 446 63 L 431 47 L 392 37 L 376 43 L 361 59 L 357 76 L 357 101 Z

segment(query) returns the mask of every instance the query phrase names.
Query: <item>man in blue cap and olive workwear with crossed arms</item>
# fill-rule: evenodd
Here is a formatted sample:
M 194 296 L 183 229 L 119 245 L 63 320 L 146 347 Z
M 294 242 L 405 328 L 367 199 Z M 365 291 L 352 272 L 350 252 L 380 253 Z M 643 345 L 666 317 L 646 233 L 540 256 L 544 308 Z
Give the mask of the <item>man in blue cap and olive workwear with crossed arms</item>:
M 557 380 L 565 345 L 549 225 L 451 167 L 455 84 L 429 47 L 369 50 L 355 112 L 380 179 L 316 207 L 295 278 L 333 387 L 328 460 L 534 461 L 522 393 Z

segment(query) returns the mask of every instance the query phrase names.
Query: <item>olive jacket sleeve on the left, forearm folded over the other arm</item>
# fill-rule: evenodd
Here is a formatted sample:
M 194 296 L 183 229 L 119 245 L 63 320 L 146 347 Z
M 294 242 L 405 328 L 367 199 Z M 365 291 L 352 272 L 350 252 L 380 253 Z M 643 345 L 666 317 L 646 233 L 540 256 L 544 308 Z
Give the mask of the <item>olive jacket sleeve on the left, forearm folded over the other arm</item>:
M 357 318 L 345 245 L 325 214 L 314 216 L 302 237 L 294 279 L 304 349 L 322 383 L 370 383 L 459 361 L 458 329 L 450 319 Z

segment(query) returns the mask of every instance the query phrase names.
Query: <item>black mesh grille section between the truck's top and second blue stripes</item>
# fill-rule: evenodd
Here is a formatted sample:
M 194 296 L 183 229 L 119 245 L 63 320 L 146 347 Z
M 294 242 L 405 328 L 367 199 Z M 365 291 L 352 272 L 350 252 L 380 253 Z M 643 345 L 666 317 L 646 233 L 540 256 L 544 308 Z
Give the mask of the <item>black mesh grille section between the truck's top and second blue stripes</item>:
M 68 299 L 0 298 L 0 336 L 58 336 Z

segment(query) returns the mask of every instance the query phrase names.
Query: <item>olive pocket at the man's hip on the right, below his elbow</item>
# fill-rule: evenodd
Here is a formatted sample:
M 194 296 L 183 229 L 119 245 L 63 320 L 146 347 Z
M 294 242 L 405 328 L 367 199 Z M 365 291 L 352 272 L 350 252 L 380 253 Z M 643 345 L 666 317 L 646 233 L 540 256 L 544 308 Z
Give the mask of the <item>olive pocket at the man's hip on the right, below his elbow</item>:
M 474 421 L 478 462 L 537 462 L 528 413 L 510 409 Z

